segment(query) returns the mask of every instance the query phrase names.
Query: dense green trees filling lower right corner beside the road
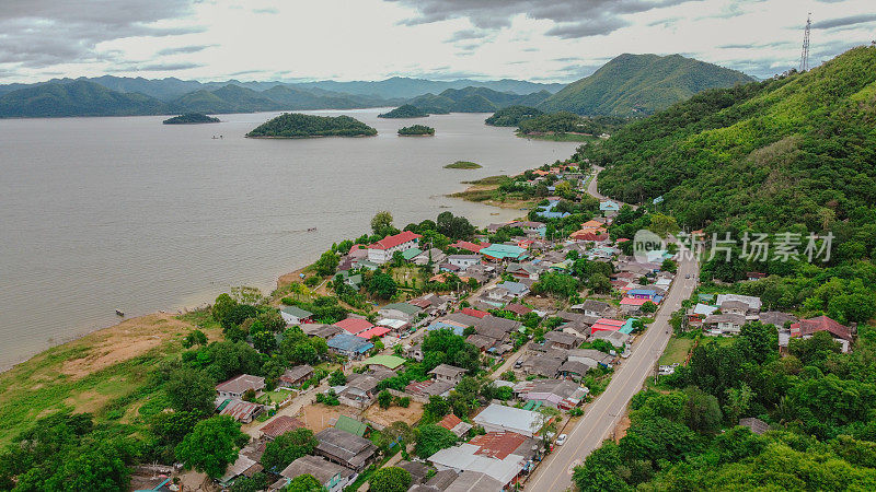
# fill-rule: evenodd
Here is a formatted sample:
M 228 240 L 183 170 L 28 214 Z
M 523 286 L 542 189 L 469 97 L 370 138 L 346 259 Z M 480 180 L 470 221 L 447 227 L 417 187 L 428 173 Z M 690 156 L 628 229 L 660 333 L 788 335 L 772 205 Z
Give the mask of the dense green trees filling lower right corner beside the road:
M 775 345 L 775 328 L 753 324 L 694 349 L 670 391 L 633 398 L 625 436 L 575 470 L 578 490 L 872 490 L 876 332 L 851 354 L 823 332 L 786 358 Z M 746 417 L 772 431 L 735 426 Z

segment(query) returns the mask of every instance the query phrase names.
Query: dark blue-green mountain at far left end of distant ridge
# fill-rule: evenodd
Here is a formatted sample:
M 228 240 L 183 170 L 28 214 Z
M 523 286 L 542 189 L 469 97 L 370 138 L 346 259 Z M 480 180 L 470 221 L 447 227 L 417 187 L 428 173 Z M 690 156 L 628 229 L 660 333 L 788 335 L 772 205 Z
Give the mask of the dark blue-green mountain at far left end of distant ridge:
M 160 115 L 168 106 L 142 94 L 122 94 L 94 82 L 49 83 L 0 97 L 0 117 Z

